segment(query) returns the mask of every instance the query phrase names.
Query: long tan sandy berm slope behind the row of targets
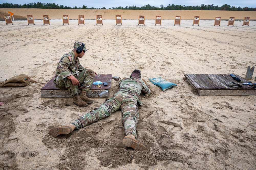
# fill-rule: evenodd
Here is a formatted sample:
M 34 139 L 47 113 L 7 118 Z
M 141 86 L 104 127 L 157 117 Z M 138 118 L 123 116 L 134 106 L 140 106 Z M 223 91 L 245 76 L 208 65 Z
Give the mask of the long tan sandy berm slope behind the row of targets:
M 215 10 L 115 10 L 115 9 L 18 9 L 1 8 L 3 12 L 12 12 L 14 15 L 26 17 L 33 15 L 35 19 L 43 19 L 42 15 L 49 15 L 50 19 L 62 19 L 62 15 L 68 15 L 69 19 L 78 19 L 78 15 L 84 15 L 85 19 L 96 19 L 96 15 L 102 15 L 103 19 L 115 19 L 115 15 L 122 15 L 122 19 L 139 19 L 139 15 L 144 15 L 145 19 L 156 19 L 156 15 L 161 15 L 162 19 L 175 19 L 175 16 L 181 16 L 181 19 L 194 19 L 194 16 L 200 16 L 200 19 L 235 19 L 243 20 L 244 17 L 251 17 L 256 20 L 256 11 L 215 11 Z M 14 18 L 15 19 L 15 18 Z

